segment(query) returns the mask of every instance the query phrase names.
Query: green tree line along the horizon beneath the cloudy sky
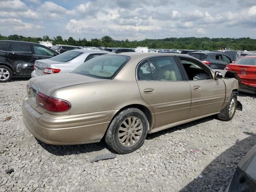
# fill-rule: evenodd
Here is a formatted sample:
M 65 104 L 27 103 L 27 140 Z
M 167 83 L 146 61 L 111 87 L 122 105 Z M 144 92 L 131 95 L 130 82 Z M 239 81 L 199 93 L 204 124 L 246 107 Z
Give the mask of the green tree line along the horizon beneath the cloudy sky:
M 17 34 L 2 36 L 0 40 L 16 40 L 35 42 L 52 41 L 52 44 L 64 44 L 74 46 L 103 46 L 103 47 L 124 47 L 136 48 L 138 46 L 147 46 L 152 49 L 191 49 L 191 50 L 219 50 L 222 48 L 230 48 L 230 50 L 256 50 L 256 39 L 252 38 L 165 38 L 165 39 L 144 39 L 141 41 L 114 40 L 110 36 L 103 36 L 102 38 L 86 38 L 75 40 L 72 37 L 63 39 L 62 36 L 50 38 L 49 36 L 41 37 L 24 37 Z

